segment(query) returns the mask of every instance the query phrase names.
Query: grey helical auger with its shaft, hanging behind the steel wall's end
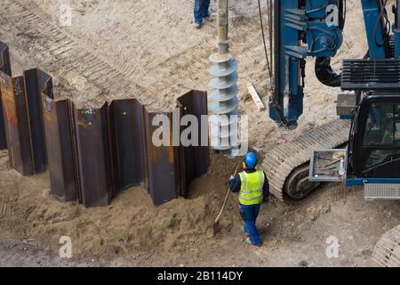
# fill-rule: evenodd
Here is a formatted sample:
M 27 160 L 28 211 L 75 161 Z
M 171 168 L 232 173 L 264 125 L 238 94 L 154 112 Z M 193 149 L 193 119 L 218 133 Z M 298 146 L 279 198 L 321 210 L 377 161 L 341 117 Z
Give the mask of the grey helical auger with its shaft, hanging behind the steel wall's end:
M 217 5 L 218 53 L 210 57 L 214 65 L 209 69 L 213 77 L 210 81 L 210 136 L 214 150 L 233 157 L 236 156 L 239 145 L 237 61 L 229 53 L 228 0 L 218 0 Z

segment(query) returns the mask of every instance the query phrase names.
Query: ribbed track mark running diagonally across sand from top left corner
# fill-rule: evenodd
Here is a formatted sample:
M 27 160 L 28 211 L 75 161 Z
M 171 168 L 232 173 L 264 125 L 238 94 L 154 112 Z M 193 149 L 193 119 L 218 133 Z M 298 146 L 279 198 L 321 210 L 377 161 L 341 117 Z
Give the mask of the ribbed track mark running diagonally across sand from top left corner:
M 28 44 L 35 43 L 34 50 L 30 53 L 35 53 L 35 49 L 39 53 L 48 53 L 57 65 L 69 71 L 74 70 L 76 74 L 83 76 L 104 93 L 112 94 L 113 98 L 133 96 L 142 104 L 151 105 L 157 110 L 165 109 L 165 106 L 156 101 L 157 94 L 154 90 L 132 82 L 127 75 L 120 72 L 117 65 L 112 66 L 102 59 L 98 52 L 93 53 L 84 38 L 73 37 L 57 24 L 46 19 L 44 15 L 37 13 L 36 10 L 32 11 L 19 1 L 3 0 L 2 6 L 1 18 L 4 20 L 2 20 L 0 31 L 3 28 L 17 29 L 22 35 L 27 36 L 30 39 Z M 6 27 L 3 27 L 4 25 Z M 39 66 L 38 68 L 45 70 L 46 67 Z M 63 77 L 62 73 L 61 71 L 55 76 Z M 87 95 L 85 104 L 100 103 L 97 96 L 98 94 Z

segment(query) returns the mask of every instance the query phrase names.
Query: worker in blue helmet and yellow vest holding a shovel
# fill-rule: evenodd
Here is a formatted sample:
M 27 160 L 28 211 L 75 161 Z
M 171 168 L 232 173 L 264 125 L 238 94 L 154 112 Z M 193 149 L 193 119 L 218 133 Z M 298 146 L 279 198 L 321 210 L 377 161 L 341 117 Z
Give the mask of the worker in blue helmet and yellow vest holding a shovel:
M 257 169 L 257 155 L 253 152 L 246 154 L 244 158 L 244 171 L 231 176 L 229 181 L 230 191 L 239 192 L 240 216 L 244 220 L 242 231 L 248 236 L 249 244 L 260 247 L 260 233 L 256 227 L 257 216 L 263 201 L 268 201 L 269 184 L 264 171 Z

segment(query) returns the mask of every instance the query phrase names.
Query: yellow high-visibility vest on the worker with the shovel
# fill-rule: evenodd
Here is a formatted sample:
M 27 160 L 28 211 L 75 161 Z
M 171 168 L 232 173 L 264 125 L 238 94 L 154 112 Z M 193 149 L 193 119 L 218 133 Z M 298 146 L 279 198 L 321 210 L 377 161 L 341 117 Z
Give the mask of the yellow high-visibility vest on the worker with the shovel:
M 262 170 L 257 170 L 253 173 L 241 172 L 240 176 L 240 192 L 239 202 L 242 205 L 260 204 L 264 199 L 262 186 L 265 182 L 265 176 Z

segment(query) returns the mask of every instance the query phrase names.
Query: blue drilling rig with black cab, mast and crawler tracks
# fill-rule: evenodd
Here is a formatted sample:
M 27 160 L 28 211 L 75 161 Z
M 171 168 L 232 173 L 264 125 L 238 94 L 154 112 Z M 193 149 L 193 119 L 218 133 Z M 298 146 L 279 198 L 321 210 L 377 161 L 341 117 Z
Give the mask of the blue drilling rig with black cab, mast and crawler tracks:
M 365 199 L 400 199 L 400 0 L 391 6 L 393 24 L 388 0 L 359 1 L 368 50 L 364 58 L 343 60 L 337 73 L 331 59 L 343 43 L 346 0 L 267 0 L 269 59 L 262 34 L 272 69 L 269 118 L 289 131 L 297 127 L 303 113 L 305 67 L 310 57 L 315 58 L 316 78 L 321 84 L 341 89 L 337 100 L 340 119 L 268 151 L 261 167 L 277 199 L 301 199 L 324 182 L 362 185 Z M 228 1 L 218 3 L 221 28 L 222 23 L 228 24 L 220 17 L 220 9 L 227 8 Z M 220 100 L 220 107 L 212 111 L 236 114 L 236 61 L 224 49 L 228 39 L 225 32 L 228 28 L 222 33 L 226 37 L 219 37 L 219 51 L 225 54 L 219 56 L 224 60 L 217 61 L 219 56 L 212 60 L 223 63 L 214 68 L 218 72 L 211 73 L 222 78 L 220 85 L 212 85 L 217 90 L 212 100 L 223 97 L 226 101 Z M 224 95 L 216 97 L 215 93 Z M 229 127 L 225 132 L 229 135 Z M 236 133 L 233 135 L 236 137 Z M 387 240 L 393 242 L 377 247 L 376 256 L 386 258 L 382 264 L 389 264 L 388 258 L 398 263 L 398 233 L 392 231 Z

